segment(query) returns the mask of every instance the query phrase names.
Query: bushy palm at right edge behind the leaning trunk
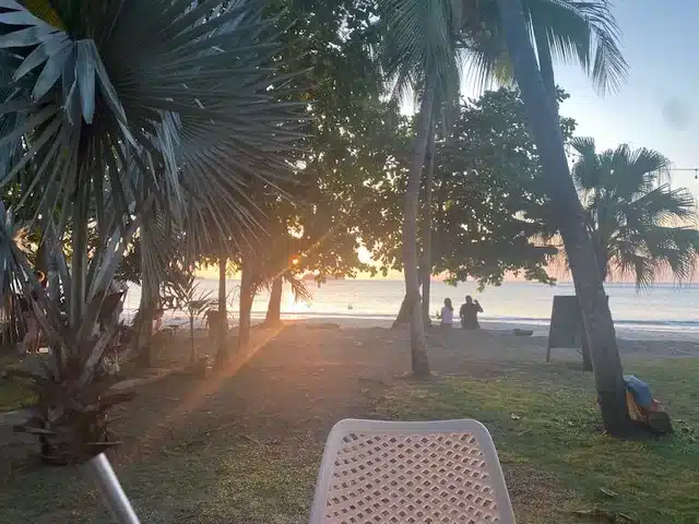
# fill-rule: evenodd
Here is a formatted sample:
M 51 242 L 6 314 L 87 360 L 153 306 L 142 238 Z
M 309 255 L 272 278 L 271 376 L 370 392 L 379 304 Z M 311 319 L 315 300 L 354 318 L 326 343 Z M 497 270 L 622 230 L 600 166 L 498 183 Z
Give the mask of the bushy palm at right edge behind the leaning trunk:
M 572 177 L 603 279 L 633 277 L 639 287 L 657 275 L 694 276 L 699 249 L 696 201 L 664 181 L 670 160 L 627 144 L 596 153 L 593 139 L 571 141 L 580 157 Z

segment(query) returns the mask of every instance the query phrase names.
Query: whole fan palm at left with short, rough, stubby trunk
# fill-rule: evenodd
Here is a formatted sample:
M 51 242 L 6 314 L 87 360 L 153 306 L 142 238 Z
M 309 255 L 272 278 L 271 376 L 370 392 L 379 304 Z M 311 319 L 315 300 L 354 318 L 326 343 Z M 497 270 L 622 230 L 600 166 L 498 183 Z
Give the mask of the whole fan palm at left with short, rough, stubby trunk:
M 27 166 L 25 200 L 59 237 L 70 223 L 70 265 L 59 250 L 61 303 L 46 300 L 11 246 L 4 274 L 38 293 L 33 303 L 51 356 L 23 373 L 39 392 L 27 431 L 51 462 L 111 445 L 99 364 L 111 332 L 94 337 L 99 303 L 125 246 L 159 214 L 185 230 L 203 210 L 224 231 L 254 230 L 250 180 L 284 176 L 296 106 L 276 74 L 262 0 L 0 0 L 0 183 Z M 273 184 L 271 184 L 273 186 Z M 88 227 L 99 242 L 88 250 Z M 144 291 L 167 266 L 167 236 L 141 228 Z M 166 242 L 155 243 L 155 242 Z M 3 276 L 4 278 L 4 276 Z M 3 287 L 3 286 L 0 286 Z

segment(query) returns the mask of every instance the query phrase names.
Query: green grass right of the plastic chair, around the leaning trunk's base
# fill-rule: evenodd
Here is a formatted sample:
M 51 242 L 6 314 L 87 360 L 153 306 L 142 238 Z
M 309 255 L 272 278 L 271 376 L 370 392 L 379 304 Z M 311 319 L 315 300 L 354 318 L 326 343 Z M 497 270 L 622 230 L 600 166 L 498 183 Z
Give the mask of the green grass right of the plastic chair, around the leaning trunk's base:
M 602 434 L 592 377 L 556 365 L 520 367 L 497 379 L 411 384 L 378 412 L 396 419 L 481 420 L 506 471 L 525 465 L 571 490 L 566 511 L 600 508 L 643 524 L 699 523 L 699 360 L 631 364 L 626 372 L 648 381 L 666 404 L 674 436 L 619 441 Z M 558 515 L 557 522 L 570 520 Z

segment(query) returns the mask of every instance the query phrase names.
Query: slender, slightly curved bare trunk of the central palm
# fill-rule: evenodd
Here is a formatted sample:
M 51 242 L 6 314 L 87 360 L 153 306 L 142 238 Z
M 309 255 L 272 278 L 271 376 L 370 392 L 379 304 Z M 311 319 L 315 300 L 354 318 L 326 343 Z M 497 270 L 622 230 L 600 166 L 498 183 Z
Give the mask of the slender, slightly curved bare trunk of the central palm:
M 419 204 L 420 175 L 425 164 L 427 141 L 431 129 L 431 114 L 435 105 L 437 81 L 437 72 L 430 72 L 423 94 L 411 172 L 405 189 L 405 206 L 403 207 L 403 273 L 405 274 L 407 308 L 411 311 L 411 362 L 413 373 L 416 377 L 429 376 L 417 272 L 417 209 Z

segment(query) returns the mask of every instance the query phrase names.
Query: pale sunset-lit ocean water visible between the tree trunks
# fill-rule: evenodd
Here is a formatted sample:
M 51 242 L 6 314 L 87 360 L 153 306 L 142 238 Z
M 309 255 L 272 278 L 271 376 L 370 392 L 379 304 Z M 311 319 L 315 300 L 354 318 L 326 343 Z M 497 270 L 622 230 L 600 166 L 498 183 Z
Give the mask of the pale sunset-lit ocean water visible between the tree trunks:
M 199 278 L 199 287 L 217 297 L 218 282 Z M 238 310 L 237 289 L 240 282 L 227 281 L 230 311 Z M 288 287 L 282 296 L 282 313 L 285 319 L 336 319 L 374 320 L 377 323 L 392 321 L 404 295 L 402 281 L 363 279 L 329 281 L 318 286 L 307 282 L 313 296 L 311 303 L 295 302 Z M 633 284 L 607 284 L 609 307 L 617 331 L 678 334 L 679 340 L 699 337 L 699 285 L 657 284 L 652 288 L 638 290 Z M 445 298 L 451 298 L 458 309 L 465 295 L 472 295 L 483 306 L 479 318 L 484 322 L 518 324 L 526 326 L 548 326 L 554 295 L 573 295 L 572 284 L 560 283 L 547 286 L 529 282 L 506 282 L 499 287 L 487 287 L 479 293 L 475 283 L 449 286 L 433 282 L 429 309 L 431 314 L 441 309 Z M 131 286 L 127 296 L 125 313 L 131 315 L 140 299 L 138 286 Z M 253 319 L 263 318 L 266 312 L 269 293 L 258 295 L 252 305 Z M 167 322 L 183 321 L 182 312 L 167 312 Z M 366 322 L 365 322 L 366 323 Z

